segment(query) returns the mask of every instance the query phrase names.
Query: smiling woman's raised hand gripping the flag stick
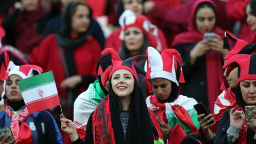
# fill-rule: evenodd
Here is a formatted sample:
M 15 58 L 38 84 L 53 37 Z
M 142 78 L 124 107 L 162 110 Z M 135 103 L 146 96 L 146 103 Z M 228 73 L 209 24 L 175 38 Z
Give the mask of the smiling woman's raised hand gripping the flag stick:
M 70 119 L 64 117 L 63 114 L 60 115 L 60 122 L 60 129 L 69 135 L 71 141 L 76 141 L 79 136 L 76 132 L 74 123 Z

